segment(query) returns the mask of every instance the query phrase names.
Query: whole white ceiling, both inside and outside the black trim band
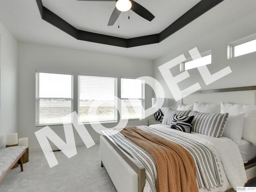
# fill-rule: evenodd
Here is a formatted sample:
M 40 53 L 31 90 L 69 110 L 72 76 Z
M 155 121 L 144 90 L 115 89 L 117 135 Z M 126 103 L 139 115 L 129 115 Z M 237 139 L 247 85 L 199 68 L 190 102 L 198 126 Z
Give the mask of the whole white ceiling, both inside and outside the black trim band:
M 155 19 L 152 22 L 148 22 L 136 14 L 131 14 L 131 20 L 127 21 L 125 18 L 126 13 L 124 13 L 124 18 L 122 18 L 122 22 L 120 23 L 121 28 L 118 29 L 116 24 L 108 28 L 106 23 L 113 9 L 111 5 L 112 2 L 43 0 L 45 6 L 49 6 L 48 8 L 51 6 L 52 8 L 50 9 L 52 11 L 57 14 L 62 14 L 62 17 L 65 17 L 64 19 L 77 28 L 129 37 L 161 31 L 161 27 L 164 28 L 168 26 L 173 20 L 184 14 L 190 6 L 193 6 L 197 0 L 137 0 L 137 2 L 145 6 L 156 16 L 156 23 L 153 22 Z M 74 4 L 74 6 L 72 4 Z M 75 6 L 75 4 L 81 4 L 81 6 Z M 86 10 L 88 10 L 91 15 L 86 12 L 82 13 L 82 16 L 78 16 L 80 15 L 78 10 L 83 10 L 84 4 L 86 4 Z M 172 5 L 177 7 L 177 11 L 176 8 L 173 8 L 175 6 Z M 166 7 L 169 9 L 166 9 Z M 181 12 L 182 10 L 184 12 Z M 195 38 L 200 38 L 200 36 L 208 34 L 216 30 L 216 28 L 225 26 L 242 16 L 255 12 L 255 10 L 256 0 L 224 0 L 164 41 L 158 44 L 134 48 L 121 48 L 76 40 L 42 20 L 36 5 L 36 0 L 0 0 L 0 22 L 2 22 L 20 42 L 154 60 L 175 49 L 177 46 L 181 46 Z M 83 22 L 84 16 L 94 18 L 95 20 L 87 19 Z M 167 16 L 168 18 L 166 19 Z M 76 19 L 76 17 L 79 19 Z M 102 18 L 106 20 L 104 21 Z M 169 19 L 170 22 L 168 22 Z

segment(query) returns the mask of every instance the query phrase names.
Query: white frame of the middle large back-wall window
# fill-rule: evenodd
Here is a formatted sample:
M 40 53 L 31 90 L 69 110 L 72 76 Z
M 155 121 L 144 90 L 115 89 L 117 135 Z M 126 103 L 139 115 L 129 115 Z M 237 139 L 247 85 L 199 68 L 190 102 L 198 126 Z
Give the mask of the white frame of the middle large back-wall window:
M 92 76 L 92 77 L 102 77 L 102 78 L 116 78 L 115 80 L 115 96 L 118 97 L 118 80 L 119 77 L 117 76 L 111 76 L 111 75 L 102 75 L 102 74 L 88 74 L 88 73 L 78 73 L 77 75 L 77 114 L 80 117 L 80 82 L 79 82 L 79 76 Z M 119 98 L 119 97 L 118 97 Z M 118 101 L 115 100 L 116 106 L 118 106 Z M 118 115 L 118 110 L 115 108 L 114 116 L 116 120 L 107 120 L 107 121 L 99 121 L 100 123 L 116 123 L 120 120 L 120 117 Z M 98 123 L 98 122 L 92 122 L 92 123 Z M 84 121 L 78 121 L 78 124 L 90 124 L 90 122 L 84 122 Z

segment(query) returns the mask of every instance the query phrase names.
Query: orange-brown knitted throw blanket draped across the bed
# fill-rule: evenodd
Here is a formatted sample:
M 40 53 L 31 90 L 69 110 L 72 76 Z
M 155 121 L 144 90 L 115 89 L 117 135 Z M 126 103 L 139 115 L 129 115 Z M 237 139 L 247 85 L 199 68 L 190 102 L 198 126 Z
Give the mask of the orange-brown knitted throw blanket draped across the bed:
M 190 153 L 161 136 L 126 126 L 121 133 L 155 160 L 157 192 L 198 192 L 196 166 Z

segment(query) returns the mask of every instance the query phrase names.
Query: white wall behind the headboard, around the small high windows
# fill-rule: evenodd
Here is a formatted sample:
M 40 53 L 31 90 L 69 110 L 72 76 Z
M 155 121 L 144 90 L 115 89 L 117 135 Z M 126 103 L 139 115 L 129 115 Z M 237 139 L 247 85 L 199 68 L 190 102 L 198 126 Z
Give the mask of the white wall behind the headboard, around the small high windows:
M 197 69 L 188 70 L 190 77 L 186 80 L 183 80 L 178 84 L 181 90 L 188 88 L 196 82 L 200 83 L 202 89 L 213 89 L 213 88 L 228 88 L 228 87 L 239 87 L 239 86 L 253 86 L 256 85 L 256 52 L 251 54 L 246 54 L 244 56 L 239 56 L 227 59 L 227 44 L 235 40 L 239 40 L 246 36 L 256 34 L 256 25 L 255 23 L 256 12 L 252 12 L 234 22 L 231 22 L 225 25 L 222 28 L 218 28 L 213 32 L 202 35 L 200 38 L 194 37 L 194 40 L 190 42 L 182 41 L 182 35 L 187 34 L 190 36 L 188 29 L 194 28 L 198 29 L 203 24 L 198 22 L 192 22 L 182 30 L 174 34 L 175 39 L 180 39 L 180 42 L 172 45 L 175 49 L 171 50 L 164 56 L 154 60 L 154 78 L 156 78 L 163 86 L 167 98 L 173 98 L 170 90 L 167 87 L 164 78 L 158 70 L 158 66 L 168 62 L 184 54 L 186 58 L 189 58 L 190 55 L 188 51 L 194 47 L 197 47 L 200 52 L 205 52 L 212 50 L 212 64 L 208 65 L 208 69 L 211 74 L 230 66 L 232 73 L 227 76 L 213 82 L 206 86 L 200 73 Z M 223 17 L 223 19 L 225 19 Z M 193 36 L 191 37 L 193 39 Z M 174 76 L 179 74 L 179 68 L 175 67 L 170 70 Z M 186 100 L 186 98 L 185 98 Z M 179 102 L 173 102 L 172 107 L 176 107 Z

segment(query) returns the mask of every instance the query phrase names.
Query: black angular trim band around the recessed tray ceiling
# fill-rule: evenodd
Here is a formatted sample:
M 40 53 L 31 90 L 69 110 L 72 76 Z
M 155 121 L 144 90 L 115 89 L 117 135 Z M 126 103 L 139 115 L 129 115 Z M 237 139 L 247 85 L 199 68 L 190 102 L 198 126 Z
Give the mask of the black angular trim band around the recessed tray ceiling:
M 43 6 L 42 0 L 36 0 L 38 10 L 40 12 L 41 18 L 46 22 L 52 24 L 53 26 L 59 28 L 60 30 L 66 32 L 70 36 L 83 41 L 95 42 L 100 44 L 119 46 L 124 48 L 130 48 L 135 46 L 143 46 L 148 44 L 160 43 L 164 39 L 168 38 L 184 26 L 188 25 L 190 22 L 194 21 L 196 18 L 200 17 L 202 14 L 212 9 L 220 2 L 224 0 L 201 0 L 185 14 L 180 16 L 176 21 L 170 24 L 167 28 L 162 30 L 158 34 L 152 34 L 147 36 L 140 36 L 135 38 L 120 38 L 115 36 L 109 36 L 104 34 L 98 34 L 94 32 L 88 32 L 83 30 L 78 30 L 58 15 L 48 10 Z

